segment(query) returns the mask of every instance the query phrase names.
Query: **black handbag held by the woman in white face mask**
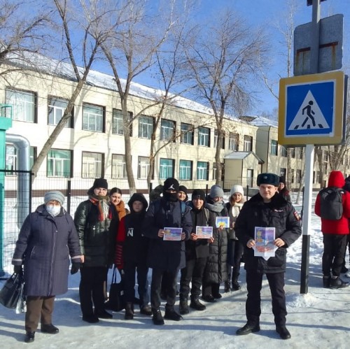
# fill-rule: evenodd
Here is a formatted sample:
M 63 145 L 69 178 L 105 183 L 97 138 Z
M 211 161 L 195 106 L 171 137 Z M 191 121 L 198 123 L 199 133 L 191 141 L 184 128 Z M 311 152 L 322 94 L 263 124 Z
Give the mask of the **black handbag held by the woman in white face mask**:
M 0 303 L 6 308 L 15 309 L 23 292 L 23 274 L 13 273 L 0 291 Z

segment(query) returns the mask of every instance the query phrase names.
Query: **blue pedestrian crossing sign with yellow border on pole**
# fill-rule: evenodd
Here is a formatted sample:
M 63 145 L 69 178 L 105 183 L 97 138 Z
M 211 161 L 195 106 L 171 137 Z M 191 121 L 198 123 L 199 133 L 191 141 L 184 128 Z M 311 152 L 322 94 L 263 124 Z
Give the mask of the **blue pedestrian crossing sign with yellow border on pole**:
M 281 79 L 279 143 L 342 143 L 345 85 L 342 71 Z

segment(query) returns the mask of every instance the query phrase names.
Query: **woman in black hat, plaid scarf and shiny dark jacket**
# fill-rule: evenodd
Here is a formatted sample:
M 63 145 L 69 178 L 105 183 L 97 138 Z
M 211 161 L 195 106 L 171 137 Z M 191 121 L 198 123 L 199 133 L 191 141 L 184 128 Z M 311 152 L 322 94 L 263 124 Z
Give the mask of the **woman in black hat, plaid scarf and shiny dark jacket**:
M 116 232 L 111 234 L 110 231 L 113 214 L 107 192 L 107 181 L 104 178 L 95 179 L 94 185 L 87 191 L 89 199 L 79 204 L 74 215 L 83 255 L 80 308 L 83 321 L 90 323 L 99 322 L 99 318 L 113 318 L 104 305 L 104 281 L 109 265 L 113 264 L 116 237 Z

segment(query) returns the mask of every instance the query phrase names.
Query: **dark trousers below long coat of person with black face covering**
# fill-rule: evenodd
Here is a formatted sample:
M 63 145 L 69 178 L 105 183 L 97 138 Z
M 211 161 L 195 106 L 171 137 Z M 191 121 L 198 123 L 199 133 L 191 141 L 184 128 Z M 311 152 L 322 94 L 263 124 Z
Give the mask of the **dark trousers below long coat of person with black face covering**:
M 152 270 L 151 281 L 151 306 L 153 310 L 158 310 L 160 307 L 160 288 L 162 285 L 162 276 L 164 271 L 161 269 Z M 167 273 L 167 305 L 174 306 L 176 300 L 177 274 L 179 270 L 166 271 Z

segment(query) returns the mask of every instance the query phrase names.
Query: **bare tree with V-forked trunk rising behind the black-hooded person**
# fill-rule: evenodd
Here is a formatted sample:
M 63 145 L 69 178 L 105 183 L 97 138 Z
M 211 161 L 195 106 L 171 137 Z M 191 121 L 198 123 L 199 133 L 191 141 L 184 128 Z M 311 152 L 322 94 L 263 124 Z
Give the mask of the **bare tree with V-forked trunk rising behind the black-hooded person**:
M 130 87 L 134 78 L 155 63 L 155 52 L 165 42 L 172 27 L 175 3 L 175 0 L 165 2 L 167 7 L 159 8 L 158 13 L 154 11 L 153 15 L 150 15 L 146 10 L 148 1 L 126 1 L 123 25 L 120 25 L 102 45 L 104 55 L 113 71 L 120 97 L 124 121 L 125 167 L 131 192 L 136 190 L 136 185 L 132 171 L 130 129 L 141 112 L 130 118 L 128 113 Z M 155 104 L 158 103 L 155 101 Z

